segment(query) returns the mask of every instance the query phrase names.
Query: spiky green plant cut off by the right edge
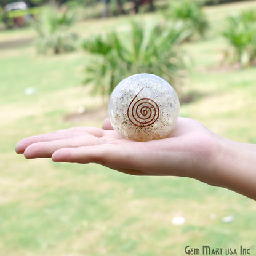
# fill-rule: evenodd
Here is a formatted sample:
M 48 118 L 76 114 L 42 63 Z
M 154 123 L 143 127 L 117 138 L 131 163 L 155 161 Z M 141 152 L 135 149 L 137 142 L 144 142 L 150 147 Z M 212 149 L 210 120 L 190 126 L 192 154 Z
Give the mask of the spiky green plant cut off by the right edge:
M 228 26 L 223 33 L 231 46 L 234 61 L 241 66 L 251 66 L 256 61 L 256 9 L 246 10 L 228 18 Z

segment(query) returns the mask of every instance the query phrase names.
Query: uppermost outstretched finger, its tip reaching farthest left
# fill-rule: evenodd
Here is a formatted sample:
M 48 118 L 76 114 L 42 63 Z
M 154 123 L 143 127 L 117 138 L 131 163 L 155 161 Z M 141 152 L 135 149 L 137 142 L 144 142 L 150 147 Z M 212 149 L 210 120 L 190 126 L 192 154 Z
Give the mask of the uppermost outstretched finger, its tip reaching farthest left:
M 92 134 L 96 137 L 103 136 L 103 130 L 95 127 L 74 127 L 65 130 L 58 130 L 57 132 L 51 132 L 47 134 L 36 135 L 28 138 L 23 138 L 15 146 L 15 151 L 17 154 L 24 153 L 25 149 L 37 142 L 50 142 L 53 140 L 61 140 L 65 138 L 79 137 L 81 135 Z

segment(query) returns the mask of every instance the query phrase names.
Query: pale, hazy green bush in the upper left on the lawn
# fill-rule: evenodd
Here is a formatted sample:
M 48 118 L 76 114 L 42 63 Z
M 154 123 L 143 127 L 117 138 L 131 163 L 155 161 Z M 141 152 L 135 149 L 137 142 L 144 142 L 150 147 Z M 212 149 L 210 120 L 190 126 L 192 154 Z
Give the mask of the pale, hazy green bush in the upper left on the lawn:
M 74 23 L 74 14 L 68 10 L 46 9 L 34 23 L 38 32 L 36 46 L 39 54 L 60 54 L 75 49 L 76 34 L 68 31 Z

